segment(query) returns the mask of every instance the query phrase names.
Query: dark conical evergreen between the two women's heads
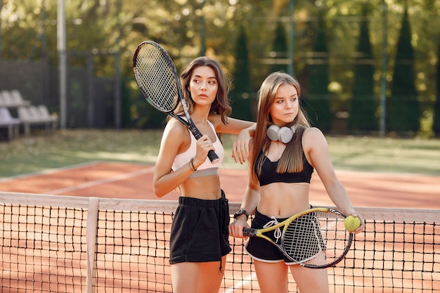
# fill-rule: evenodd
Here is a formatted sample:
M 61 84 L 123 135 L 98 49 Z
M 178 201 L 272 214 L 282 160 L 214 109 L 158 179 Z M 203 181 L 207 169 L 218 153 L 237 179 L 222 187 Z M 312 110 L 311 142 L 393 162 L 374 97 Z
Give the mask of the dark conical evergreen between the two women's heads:
M 250 64 L 247 54 L 247 38 L 245 28 L 240 27 L 240 33 L 235 45 L 235 68 L 233 71 L 233 89 L 231 91 L 232 117 L 253 120 L 254 97 L 250 78 Z

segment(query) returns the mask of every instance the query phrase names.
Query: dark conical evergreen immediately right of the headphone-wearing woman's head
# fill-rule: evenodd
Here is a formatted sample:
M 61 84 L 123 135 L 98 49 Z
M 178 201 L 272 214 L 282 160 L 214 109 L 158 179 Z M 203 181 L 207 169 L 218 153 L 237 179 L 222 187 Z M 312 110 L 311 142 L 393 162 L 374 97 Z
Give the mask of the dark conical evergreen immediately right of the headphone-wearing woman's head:
M 330 112 L 330 92 L 328 91 L 328 48 L 325 38 L 325 22 L 323 12 L 318 15 L 315 45 L 315 58 L 309 65 L 309 87 L 304 95 L 304 108 L 313 126 L 322 131 L 332 129 L 332 113 Z

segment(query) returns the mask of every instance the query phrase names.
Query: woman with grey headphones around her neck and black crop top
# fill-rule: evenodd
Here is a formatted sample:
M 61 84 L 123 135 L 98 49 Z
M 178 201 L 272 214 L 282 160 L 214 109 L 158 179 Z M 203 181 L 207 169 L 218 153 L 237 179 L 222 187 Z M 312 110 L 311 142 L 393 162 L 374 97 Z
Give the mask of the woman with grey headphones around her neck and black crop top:
M 255 214 L 252 228 L 260 229 L 309 209 L 314 170 L 337 209 L 346 215 L 356 215 L 347 191 L 337 179 L 323 133 L 309 125 L 300 107 L 300 93 L 297 80 L 283 72 L 273 72 L 261 84 L 257 127 L 250 142 L 249 182 L 241 209 L 229 226 L 234 237 L 243 237 L 243 228 L 249 228 L 250 213 Z M 364 229 L 363 219 L 359 218 L 362 224 L 354 233 Z M 269 236 L 276 242 L 280 231 L 274 230 Z M 250 237 L 246 250 L 254 261 L 262 293 L 287 293 L 289 270 L 299 292 L 329 290 L 325 268 L 300 266 L 267 240 Z

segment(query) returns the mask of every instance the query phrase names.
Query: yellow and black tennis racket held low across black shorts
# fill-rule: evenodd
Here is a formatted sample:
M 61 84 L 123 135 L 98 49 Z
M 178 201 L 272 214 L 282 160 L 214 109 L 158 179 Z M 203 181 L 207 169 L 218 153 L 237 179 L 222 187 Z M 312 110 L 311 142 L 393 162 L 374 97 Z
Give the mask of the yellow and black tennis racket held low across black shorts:
M 276 245 L 291 261 L 307 268 L 328 268 L 344 259 L 353 240 L 345 216 L 335 209 L 316 207 L 262 229 L 245 228 L 243 235 L 261 237 Z M 274 242 L 265 233 L 282 230 Z

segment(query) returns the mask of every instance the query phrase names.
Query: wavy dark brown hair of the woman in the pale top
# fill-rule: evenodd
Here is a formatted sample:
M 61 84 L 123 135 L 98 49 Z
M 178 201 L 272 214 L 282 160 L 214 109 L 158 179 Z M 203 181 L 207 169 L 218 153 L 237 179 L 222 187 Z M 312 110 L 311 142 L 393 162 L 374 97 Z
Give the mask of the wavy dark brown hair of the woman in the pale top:
M 193 75 L 193 71 L 195 70 L 195 68 L 200 66 L 211 67 L 212 70 L 214 70 L 217 82 L 219 84 L 219 89 L 217 89 L 216 98 L 211 105 L 209 114 L 219 114 L 221 116 L 221 121 L 224 124 L 227 124 L 228 115 L 231 115 L 232 112 L 232 108 L 231 105 L 229 104 L 229 98 L 228 98 L 230 81 L 228 77 L 226 77 L 226 74 L 221 68 L 220 63 L 212 58 L 208 58 L 206 56 L 195 58 L 181 73 L 181 85 L 183 90 L 183 97 L 185 98 L 186 103 L 188 104 L 188 110 L 190 113 L 192 113 L 194 108 L 194 100 L 193 98 L 191 98 L 191 93 L 188 90 L 188 87 L 190 85 L 190 79 Z M 174 112 L 176 112 L 176 114 L 183 113 L 183 109 L 181 108 L 180 104 Z

